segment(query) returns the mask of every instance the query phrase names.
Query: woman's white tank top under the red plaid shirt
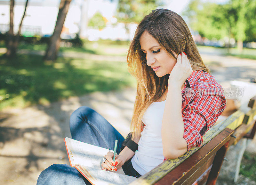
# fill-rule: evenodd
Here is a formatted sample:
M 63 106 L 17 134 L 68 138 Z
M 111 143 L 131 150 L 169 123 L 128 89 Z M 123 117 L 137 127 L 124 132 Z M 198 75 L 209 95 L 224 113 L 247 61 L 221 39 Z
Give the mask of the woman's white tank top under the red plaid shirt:
M 132 157 L 132 167 L 141 175 L 146 174 L 164 161 L 161 137 L 165 101 L 153 102 L 145 111 L 138 150 Z

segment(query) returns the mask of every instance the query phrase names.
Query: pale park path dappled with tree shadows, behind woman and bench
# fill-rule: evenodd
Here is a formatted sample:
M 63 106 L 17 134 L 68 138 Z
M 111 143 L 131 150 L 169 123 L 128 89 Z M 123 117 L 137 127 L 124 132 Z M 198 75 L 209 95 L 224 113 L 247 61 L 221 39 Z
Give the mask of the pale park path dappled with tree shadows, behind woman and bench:
M 81 57 L 85 56 L 83 53 L 80 54 Z M 229 87 L 230 80 L 249 82 L 249 78 L 256 77 L 255 60 L 226 57 L 219 53 L 203 51 L 201 55 L 216 81 L 224 88 Z M 71 56 L 65 53 L 65 57 L 74 56 L 78 55 Z M 111 58 L 115 57 L 111 56 Z M 120 60 L 121 58 L 117 57 L 114 60 L 123 61 Z M 101 58 L 99 57 L 98 60 Z M 105 56 L 104 60 L 106 60 Z M 37 105 L 2 111 L 0 113 L 1 184 L 36 184 L 39 174 L 45 168 L 54 163 L 69 164 L 63 138 L 71 137 L 69 117 L 80 106 L 88 106 L 99 112 L 126 137 L 129 133 L 135 96 L 136 89 L 127 88 L 70 97 L 47 106 Z M 255 143 L 254 139 L 248 146 L 250 152 L 256 153 Z M 255 182 L 241 176 L 239 183 Z

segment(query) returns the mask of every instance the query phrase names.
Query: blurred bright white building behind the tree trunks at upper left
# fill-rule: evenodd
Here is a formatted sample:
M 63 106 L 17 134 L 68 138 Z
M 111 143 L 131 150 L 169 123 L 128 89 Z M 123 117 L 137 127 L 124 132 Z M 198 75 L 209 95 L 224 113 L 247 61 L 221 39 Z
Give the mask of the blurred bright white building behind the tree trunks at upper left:
M 60 0 L 30 0 L 28 2 L 25 18 L 22 23 L 21 34 L 24 36 L 50 37 L 53 33 Z M 14 33 L 18 32 L 21 17 L 24 13 L 25 0 L 15 1 L 14 5 Z M 106 28 L 93 30 L 87 27 L 90 19 L 96 11 L 104 16 Z M 73 39 L 76 33 L 82 38 L 90 40 L 112 39 L 128 40 L 132 38 L 136 25 L 130 25 L 130 34 L 126 33 L 123 23 L 116 23 L 114 13 L 116 2 L 106 0 L 73 0 L 61 33 L 62 39 Z M 0 32 L 9 30 L 10 1 L 0 1 Z M 115 25 L 113 25 L 115 24 Z

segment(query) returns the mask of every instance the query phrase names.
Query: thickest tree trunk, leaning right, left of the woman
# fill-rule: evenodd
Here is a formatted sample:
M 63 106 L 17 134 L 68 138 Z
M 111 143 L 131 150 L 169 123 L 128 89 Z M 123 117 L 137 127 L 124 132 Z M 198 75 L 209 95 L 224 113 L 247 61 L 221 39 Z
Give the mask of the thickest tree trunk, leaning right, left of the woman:
M 56 60 L 57 53 L 60 48 L 60 33 L 62 31 L 66 15 L 68 13 L 68 8 L 71 0 L 61 0 L 60 1 L 60 8 L 59 13 L 57 16 L 57 21 L 55 24 L 55 28 L 53 34 L 50 38 L 48 43 L 48 47 L 46 53 L 44 55 L 44 60 Z

